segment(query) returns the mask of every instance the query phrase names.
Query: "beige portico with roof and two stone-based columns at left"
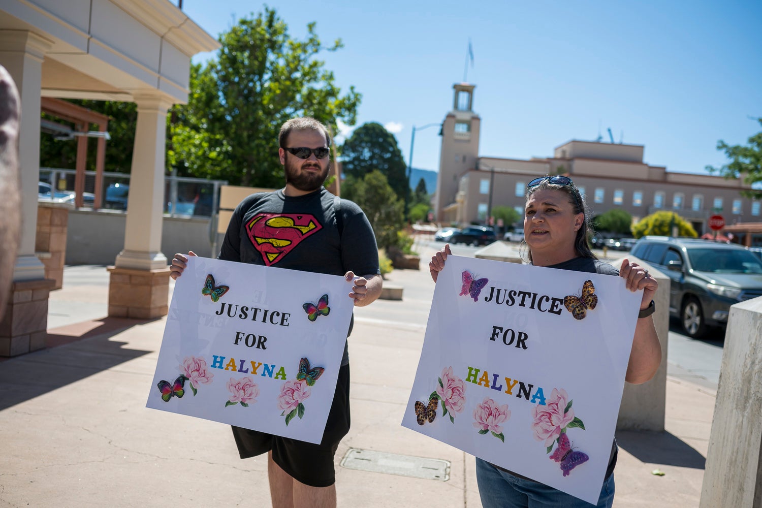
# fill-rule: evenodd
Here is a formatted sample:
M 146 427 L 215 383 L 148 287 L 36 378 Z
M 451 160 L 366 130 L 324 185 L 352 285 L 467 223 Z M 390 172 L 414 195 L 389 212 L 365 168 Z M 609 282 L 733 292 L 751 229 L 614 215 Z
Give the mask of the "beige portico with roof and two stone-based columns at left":
M 23 215 L 12 294 L 0 321 L 0 356 L 38 350 L 46 334 L 53 283 L 35 255 L 42 97 L 138 105 L 124 248 L 109 268 L 109 315 L 158 317 L 167 312 L 169 282 L 160 250 L 166 115 L 172 104 L 187 101 L 191 57 L 218 47 L 168 0 L 0 3 L 0 65 L 21 94 Z

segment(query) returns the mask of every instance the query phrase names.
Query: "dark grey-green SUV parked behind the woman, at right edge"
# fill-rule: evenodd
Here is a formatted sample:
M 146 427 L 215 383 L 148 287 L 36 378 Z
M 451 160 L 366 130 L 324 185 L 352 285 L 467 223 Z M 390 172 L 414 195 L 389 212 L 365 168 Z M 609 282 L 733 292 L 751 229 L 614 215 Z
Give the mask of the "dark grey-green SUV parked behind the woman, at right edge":
M 670 314 L 690 337 L 727 324 L 731 305 L 762 296 L 762 260 L 740 245 L 647 236 L 632 255 L 669 276 Z

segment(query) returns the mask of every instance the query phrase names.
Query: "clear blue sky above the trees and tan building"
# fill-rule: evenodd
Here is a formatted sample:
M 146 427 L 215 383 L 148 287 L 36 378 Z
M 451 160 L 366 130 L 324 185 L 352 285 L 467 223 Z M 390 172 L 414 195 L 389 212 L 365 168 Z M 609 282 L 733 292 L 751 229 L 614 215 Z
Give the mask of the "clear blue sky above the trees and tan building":
M 176 3 L 176 0 L 174 0 Z M 482 156 L 551 156 L 570 139 L 645 145 L 645 162 L 705 173 L 719 139 L 745 144 L 762 117 L 762 2 L 439 2 L 290 0 L 269 4 L 302 38 L 316 22 L 337 84 L 363 94 L 356 126 L 379 122 L 408 161 L 411 127 L 440 123 L 463 81 L 476 85 Z M 184 0 L 213 36 L 263 4 Z M 210 54 L 194 57 L 194 62 Z M 413 166 L 437 171 L 438 129 L 417 130 Z

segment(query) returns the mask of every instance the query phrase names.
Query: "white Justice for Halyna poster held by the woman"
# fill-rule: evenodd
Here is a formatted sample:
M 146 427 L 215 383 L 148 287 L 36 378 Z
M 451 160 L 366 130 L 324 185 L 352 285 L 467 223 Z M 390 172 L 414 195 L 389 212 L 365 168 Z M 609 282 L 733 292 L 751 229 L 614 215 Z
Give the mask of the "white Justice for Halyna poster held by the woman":
M 448 256 L 402 425 L 597 503 L 641 292 Z

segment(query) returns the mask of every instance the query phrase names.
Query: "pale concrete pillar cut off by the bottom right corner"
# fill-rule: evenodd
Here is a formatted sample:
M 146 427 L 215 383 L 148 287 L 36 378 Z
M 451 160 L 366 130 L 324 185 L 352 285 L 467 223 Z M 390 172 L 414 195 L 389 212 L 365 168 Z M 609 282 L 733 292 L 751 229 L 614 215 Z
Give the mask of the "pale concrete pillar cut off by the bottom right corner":
M 762 297 L 730 308 L 700 508 L 762 508 Z

